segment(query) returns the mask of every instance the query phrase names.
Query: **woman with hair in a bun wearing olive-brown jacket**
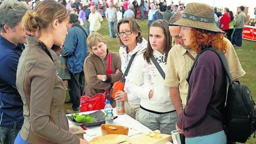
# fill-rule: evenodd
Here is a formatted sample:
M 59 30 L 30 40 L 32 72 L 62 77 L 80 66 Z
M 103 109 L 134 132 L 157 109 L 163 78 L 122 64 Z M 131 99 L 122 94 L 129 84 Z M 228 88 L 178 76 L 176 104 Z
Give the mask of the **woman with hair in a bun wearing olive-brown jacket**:
M 22 18 L 22 27 L 32 35 L 26 36 L 27 45 L 17 67 L 24 124 L 15 144 L 88 144 L 68 131 L 63 109 L 66 87 L 57 74 L 61 65 L 56 51 L 64 44 L 68 20 L 67 9 L 54 0 L 40 1 Z

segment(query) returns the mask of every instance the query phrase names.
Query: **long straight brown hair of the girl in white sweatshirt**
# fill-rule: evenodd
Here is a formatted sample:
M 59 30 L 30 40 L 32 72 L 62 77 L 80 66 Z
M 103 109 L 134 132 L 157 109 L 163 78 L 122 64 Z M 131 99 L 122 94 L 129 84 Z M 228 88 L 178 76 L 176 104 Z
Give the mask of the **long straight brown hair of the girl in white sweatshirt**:
M 171 37 L 171 34 L 170 34 L 170 31 L 169 31 L 169 25 L 168 25 L 168 22 L 166 20 L 162 20 L 162 19 L 158 19 L 156 21 L 154 21 L 151 25 L 150 25 L 150 29 L 152 27 L 159 27 L 163 30 L 163 33 L 165 35 L 165 42 L 164 42 L 164 53 L 165 53 L 165 57 L 167 58 L 168 56 L 168 52 L 170 51 L 171 49 L 171 40 L 172 40 L 172 37 Z M 144 54 L 143 54 L 143 57 L 144 59 L 147 61 L 147 63 L 151 64 L 150 62 L 150 57 L 153 56 L 153 49 L 150 45 L 150 41 L 149 41 L 149 32 L 150 32 L 150 29 L 148 31 L 148 40 L 147 40 L 147 48 L 145 49 L 144 51 Z M 152 28 L 153 29 L 153 28 Z

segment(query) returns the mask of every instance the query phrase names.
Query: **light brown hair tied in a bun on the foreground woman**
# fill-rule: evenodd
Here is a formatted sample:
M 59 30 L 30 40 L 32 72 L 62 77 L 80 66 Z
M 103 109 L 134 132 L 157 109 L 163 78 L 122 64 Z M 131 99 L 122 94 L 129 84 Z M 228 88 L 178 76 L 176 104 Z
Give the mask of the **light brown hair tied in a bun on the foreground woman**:
M 22 18 L 22 27 L 29 32 L 36 32 L 40 29 L 45 29 L 54 19 L 62 22 L 69 18 L 67 9 L 54 0 L 40 1 L 34 11 L 28 10 Z

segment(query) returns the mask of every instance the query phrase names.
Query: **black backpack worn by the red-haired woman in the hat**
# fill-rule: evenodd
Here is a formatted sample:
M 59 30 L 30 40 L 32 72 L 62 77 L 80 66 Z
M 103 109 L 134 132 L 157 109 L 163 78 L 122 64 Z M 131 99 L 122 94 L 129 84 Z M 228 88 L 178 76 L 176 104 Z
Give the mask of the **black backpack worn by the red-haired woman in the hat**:
M 256 134 L 256 109 L 252 93 L 246 85 L 240 84 L 239 81 L 232 81 L 226 57 L 222 51 L 207 47 L 200 54 L 206 50 L 214 51 L 218 55 L 229 81 L 224 111 L 215 111 L 208 105 L 206 113 L 223 122 L 228 141 L 245 143 L 253 133 L 254 138 Z M 195 58 L 189 77 L 200 54 Z

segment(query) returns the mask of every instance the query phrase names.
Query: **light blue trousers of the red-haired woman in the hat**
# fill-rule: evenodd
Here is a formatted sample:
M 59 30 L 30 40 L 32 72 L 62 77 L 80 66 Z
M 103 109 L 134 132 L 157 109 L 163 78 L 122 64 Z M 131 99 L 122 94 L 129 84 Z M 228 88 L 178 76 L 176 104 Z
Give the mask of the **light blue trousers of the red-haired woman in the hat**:
M 185 138 L 186 144 L 226 144 L 227 136 L 224 131 L 219 131 L 214 134 L 209 134 L 206 136 L 196 136 L 193 138 Z

